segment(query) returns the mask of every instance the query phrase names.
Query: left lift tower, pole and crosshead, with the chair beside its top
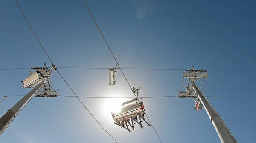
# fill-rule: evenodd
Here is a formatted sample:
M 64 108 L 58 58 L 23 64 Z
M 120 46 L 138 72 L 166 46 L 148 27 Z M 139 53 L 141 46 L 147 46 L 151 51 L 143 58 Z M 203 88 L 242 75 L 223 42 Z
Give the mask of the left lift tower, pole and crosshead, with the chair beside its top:
M 53 71 L 57 70 L 54 65 L 52 65 L 52 68 Z M 0 118 L 0 135 L 2 135 L 3 131 L 9 126 L 9 124 L 34 95 L 38 95 L 38 97 L 42 97 L 43 95 L 47 97 L 55 97 L 58 95 L 59 90 L 54 90 L 50 87 L 51 84 L 49 79 L 53 71 L 52 69 L 49 69 L 49 67 L 46 67 L 46 64 L 44 64 L 44 67 L 31 68 L 29 71 L 30 76 L 21 82 L 25 88 L 34 88 Z

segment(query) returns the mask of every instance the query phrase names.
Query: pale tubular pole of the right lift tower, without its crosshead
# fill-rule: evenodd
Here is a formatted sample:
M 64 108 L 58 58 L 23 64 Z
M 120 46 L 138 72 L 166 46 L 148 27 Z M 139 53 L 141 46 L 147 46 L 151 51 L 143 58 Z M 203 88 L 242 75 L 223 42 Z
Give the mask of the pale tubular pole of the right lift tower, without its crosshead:
M 205 95 L 201 92 L 201 90 L 195 84 L 195 82 L 192 82 L 192 87 L 196 90 L 198 98 L 201 100 L 202 104 L 204 105 L 204 108 L 205 108 L 216 132 L 218 133 L 218 136 L 221 139 L 221 143 L 237 143 L 235 137 L 232 135 L 230 130 L 227 128 L 226 124 L 221 119 L 220 115 L 218 115 L 218 112 L 212 107 L 212 104 L 205 97 Z

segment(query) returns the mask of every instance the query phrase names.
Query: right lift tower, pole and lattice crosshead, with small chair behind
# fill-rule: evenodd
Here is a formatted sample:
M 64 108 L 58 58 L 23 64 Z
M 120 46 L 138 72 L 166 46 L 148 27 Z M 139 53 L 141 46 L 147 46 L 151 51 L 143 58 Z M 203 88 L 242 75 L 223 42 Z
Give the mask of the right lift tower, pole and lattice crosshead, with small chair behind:
M 212 104 L 203 93 L 204 84 L 208 77 L 207 71 L 194 70 L 194 66 L 192 66 L 192 69 L 184 70 L 182 76 L 182 85 L 180 90 L 177 91 L 178 97 L 191 97 L 195 101 L 196 110 L 206 110 L 216 132 L 218 133 L 221 143 L 237 143 L 235 137 L 232 135 L 224 121 L 221 119 L 218 112 L 212 107 Z M 184 81 L 184 79 L 187 80 Z M 200 79 L 204 79 L 204 83 Z M 199 83 L 202 85 L 198 87 L 195 81 L 200 81 Z

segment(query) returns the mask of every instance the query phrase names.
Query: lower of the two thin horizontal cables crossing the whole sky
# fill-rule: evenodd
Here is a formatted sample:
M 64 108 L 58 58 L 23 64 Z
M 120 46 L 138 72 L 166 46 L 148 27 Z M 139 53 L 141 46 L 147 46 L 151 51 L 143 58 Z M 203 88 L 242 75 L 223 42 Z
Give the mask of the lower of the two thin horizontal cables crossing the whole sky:
M 23 97 L 24 95 L 0 95 L 0 97 Z M 57 97 L 76 97 L 76 96 L 70 96 L 70 95 L 58 95 Z M 95 96 L 77 96 L 79 98 L 134 98 L 134 97 L 95 97 Z M 178 97 L 177 95 L 175 96 L 151 96 L 151 97 L 141 97 L 141 98 L 170 98 L 170 97 Z M 224 97 L 224 96 L 206 96 L 207 98 L 244 98 L 244 99 L 249 99 L 249 98 L 256 98 L 256 97 Z

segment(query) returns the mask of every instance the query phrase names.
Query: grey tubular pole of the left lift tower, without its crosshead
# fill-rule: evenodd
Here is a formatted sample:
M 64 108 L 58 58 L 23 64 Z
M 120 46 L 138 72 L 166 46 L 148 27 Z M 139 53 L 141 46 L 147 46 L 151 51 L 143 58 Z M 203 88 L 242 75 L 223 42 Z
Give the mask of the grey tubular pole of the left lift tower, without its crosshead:
M 19 114 L 19 112 L 26 106 L 26 104 L 32 99 L 35 93 L 41 89 L 43 85 L 44 82 L 38 84 L 38 86 L 36 86 L 28 94 L 21 98 L 20 101 L 18 101 L 0 118 L 0 135 L 2 135 L 3 131 L 9 126 L 13 119 Z

